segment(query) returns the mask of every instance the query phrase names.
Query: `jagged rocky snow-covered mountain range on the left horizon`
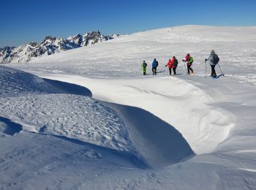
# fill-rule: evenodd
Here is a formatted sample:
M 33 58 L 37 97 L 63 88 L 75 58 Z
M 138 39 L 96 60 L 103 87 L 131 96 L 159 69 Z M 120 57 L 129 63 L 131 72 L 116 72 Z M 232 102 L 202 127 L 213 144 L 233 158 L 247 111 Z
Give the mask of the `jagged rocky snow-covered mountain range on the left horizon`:
M 74 37 L 45 37 L 42 42 L 31 42 L 19 47 L 0 48 L 0 64 L 29 62 L 33 58 L 49 56 L 65 50 L 71 50 L 118 37 L 118 34 L 104 36 L 99 31 L 92 31 Z

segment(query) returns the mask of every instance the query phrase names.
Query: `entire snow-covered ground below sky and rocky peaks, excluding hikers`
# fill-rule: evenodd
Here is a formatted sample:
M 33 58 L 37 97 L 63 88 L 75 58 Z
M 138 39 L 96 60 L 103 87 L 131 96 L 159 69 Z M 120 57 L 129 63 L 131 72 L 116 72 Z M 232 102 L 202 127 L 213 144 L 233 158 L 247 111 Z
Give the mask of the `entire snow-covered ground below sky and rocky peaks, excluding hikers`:
M 0 187 L 256 189 L 255 61 L 256 27 L 178 26 L 0 66 Z

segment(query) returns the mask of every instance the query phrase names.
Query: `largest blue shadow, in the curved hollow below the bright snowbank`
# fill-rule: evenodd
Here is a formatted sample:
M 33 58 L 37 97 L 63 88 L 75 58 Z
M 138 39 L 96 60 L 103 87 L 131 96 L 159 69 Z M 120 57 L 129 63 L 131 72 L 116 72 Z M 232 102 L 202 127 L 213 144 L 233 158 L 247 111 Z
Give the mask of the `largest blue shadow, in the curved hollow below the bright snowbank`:
M 165 167 L 195 156 L 182 134 L 156 115 L 138 107 L 104 104 L 124 120 L 129 140 L 151 167 Z

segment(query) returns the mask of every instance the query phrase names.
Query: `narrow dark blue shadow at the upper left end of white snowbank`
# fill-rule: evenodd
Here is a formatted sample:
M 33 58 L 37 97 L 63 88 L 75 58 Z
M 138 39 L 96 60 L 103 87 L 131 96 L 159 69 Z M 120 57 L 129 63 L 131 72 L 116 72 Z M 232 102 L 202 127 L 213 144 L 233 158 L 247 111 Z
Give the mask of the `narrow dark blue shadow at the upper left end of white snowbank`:
M 50 80 L 46 78 L 42 79 L 45 80 L 45 82 L 50 83 L 50 85 L 58 88 L 64 94 L 75 94 L 92 97 L 91 91 L 86 87 L 78 86 L 72 83 L 61 82 L 59 80 Z

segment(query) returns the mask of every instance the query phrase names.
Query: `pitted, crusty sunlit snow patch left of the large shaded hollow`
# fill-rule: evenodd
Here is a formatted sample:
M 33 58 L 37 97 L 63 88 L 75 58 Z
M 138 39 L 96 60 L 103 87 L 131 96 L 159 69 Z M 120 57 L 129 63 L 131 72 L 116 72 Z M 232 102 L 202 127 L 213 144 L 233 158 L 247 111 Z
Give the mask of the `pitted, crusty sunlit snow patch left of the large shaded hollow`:
M 37 95 L 0 99 L 1 115 L 24 129 L 58 134 L 119 151 L 129 151 L 124 122 L 99 102 L 75 95 Z

